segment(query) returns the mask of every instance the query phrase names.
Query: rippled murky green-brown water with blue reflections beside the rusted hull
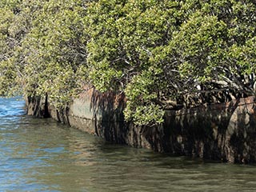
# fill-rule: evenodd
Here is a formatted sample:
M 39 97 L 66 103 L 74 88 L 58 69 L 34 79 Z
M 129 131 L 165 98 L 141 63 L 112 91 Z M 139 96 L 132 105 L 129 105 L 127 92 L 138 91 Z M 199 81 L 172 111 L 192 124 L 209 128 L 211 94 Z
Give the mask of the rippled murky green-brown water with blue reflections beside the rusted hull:
M 0 98 L 0 191 L 255 191 L 256 166 L 113 145 Z

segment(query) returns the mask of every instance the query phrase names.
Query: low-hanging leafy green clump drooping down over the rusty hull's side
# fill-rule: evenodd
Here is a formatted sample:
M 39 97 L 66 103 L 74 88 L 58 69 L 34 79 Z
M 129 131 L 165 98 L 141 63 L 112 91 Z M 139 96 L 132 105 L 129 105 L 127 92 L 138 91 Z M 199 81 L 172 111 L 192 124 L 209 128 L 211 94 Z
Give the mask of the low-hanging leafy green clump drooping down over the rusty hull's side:
M 158 99 L 158 89 L 153 70 L 144 70 L 142 74 L 134 76 L 126 86 L 126 121 L 133 120 L 137 125 L 162 122 L 164 110 L 152 102 Z

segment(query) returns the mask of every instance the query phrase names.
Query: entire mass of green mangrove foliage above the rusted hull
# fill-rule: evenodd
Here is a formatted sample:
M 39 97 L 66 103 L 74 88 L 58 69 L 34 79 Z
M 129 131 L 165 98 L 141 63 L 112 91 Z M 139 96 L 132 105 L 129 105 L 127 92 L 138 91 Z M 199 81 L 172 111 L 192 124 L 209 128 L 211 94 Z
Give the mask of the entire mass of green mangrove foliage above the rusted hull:
M 0 2 L 0 94 L 65 107 L 86 85 L 138 125 L 255 94 L 253 0 Z

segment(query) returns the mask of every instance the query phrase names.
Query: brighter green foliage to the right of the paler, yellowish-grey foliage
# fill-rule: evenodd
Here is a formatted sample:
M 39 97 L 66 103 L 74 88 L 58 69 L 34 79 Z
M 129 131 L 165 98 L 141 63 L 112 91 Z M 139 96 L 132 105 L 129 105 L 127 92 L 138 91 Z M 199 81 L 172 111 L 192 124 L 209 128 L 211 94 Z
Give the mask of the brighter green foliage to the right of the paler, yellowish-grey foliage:
M 166 108 L 202 102 L 195 97 L 203 94 L 187 100 L 198 86 L 254 94 L 242 78 L 255 73 L 253 13 L 253 1 L 93 2 L 90 79 L 98 90 L 125 91 L 126 120 L 139 125 L 162 122 Z

